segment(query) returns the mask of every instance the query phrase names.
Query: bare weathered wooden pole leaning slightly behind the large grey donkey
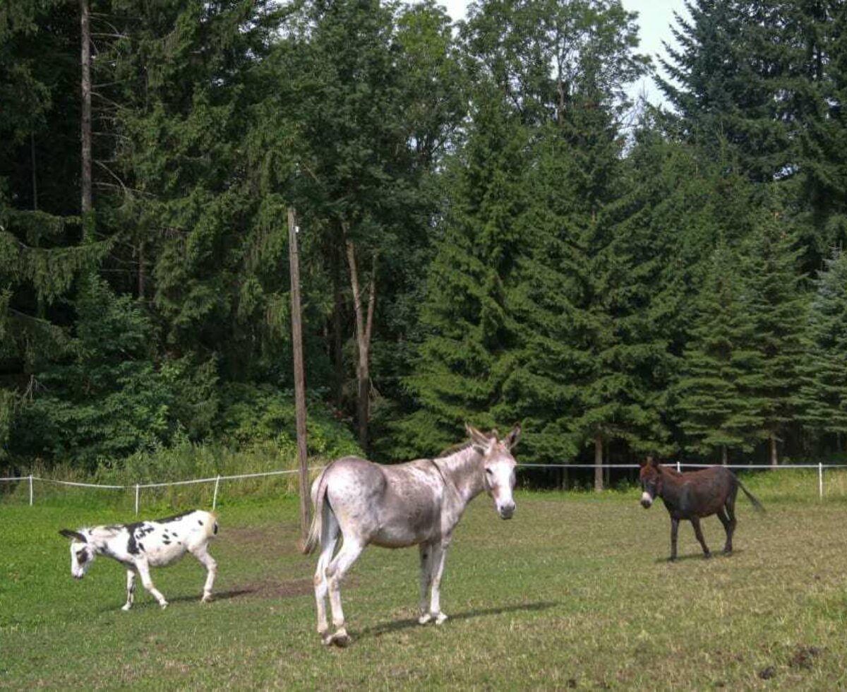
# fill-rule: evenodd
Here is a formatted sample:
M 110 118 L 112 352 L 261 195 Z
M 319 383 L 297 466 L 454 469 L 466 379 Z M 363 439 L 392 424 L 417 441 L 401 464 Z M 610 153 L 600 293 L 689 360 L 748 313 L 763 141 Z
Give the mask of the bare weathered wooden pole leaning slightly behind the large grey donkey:
M 300 257 L 297 253 L 297 219 L 288 208 L 288 257 L 291 262 L 291 346 L 294 351 L 294 405 L 297 415 L 297 462 L 300 468 L 300 534 L 305 542 L 311 511 L 309 470 L 306 459 L 306 374 L 303 368 L 303 329 L 300 320 Z

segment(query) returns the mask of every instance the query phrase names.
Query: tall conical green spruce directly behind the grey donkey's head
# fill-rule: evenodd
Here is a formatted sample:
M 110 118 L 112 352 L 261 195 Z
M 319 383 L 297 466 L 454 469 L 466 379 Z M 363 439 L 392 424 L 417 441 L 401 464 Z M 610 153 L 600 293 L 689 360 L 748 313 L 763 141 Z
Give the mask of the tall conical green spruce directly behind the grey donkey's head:
M 421 313 L 424 341 L 406 379 L 419 409 L 397 426 L 400 456 L 438 451 L 465 421 L 490 426 L 509 411 L 515 324 L 508 305 L 528 203 L 523 184 L 527 131 L 501 91 L 477 91 L 473 127 L 452 162 L 453 197 Z

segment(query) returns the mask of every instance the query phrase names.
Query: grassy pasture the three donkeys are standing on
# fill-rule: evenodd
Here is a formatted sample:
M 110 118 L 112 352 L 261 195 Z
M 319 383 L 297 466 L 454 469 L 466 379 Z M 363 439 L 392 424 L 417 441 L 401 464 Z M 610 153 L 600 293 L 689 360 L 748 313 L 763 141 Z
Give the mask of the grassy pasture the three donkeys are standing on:
M 99 558 L 71 579 L 56 531 L 131 510 L 91 495 L 4 501 L 0 688 L 844 689 L 847 502 L 817 501 L 811 474 L 780 475 L 747 482 L 767 515 L 739 496 L 734 556 L 702 559 L 684 524 L 675 564 L 667 512 L 645 512 L 635 490 L 518 493 L 511 522 L 479 498 L 447 560 L 451 619 L 415 623 L 417 550 L 370 548 L 342 591 L 346 650 L 314 631 L 296 498 L 219 509 L 217 601 L 200 604 L 188 556 L 153 571 L 167 610 L 139 584 L 130 613 L 123 568 Z M 720 523 L 704 531 L 718 551 Z

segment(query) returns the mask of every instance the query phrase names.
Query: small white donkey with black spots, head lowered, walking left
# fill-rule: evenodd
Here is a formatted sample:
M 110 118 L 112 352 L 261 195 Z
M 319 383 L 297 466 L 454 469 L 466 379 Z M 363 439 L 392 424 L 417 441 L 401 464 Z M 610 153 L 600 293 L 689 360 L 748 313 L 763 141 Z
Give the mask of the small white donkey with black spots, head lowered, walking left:
M 168 601 L 165 601 L 150 579 L 150 567 L 165 567 L 179 560 L 186 552 L 190 552 L 206 566 L 202 601 L 211 601 L 218 563 L 208 554 L 208 542 L 217 533 L 218 523 L 214 515 L 199 509 L 150 522 L 59 531 L 59 534 L 71 539 L 70 573 L 75 579 L 82 579 L 86 575 L 97 555 L 112 557 L 126 567 L 125 611 L 130 610 L 135 600 L 136 572 L 141 577 L 141 584 L 144 584 L 144 588 L 159 605 L 167 607 Z

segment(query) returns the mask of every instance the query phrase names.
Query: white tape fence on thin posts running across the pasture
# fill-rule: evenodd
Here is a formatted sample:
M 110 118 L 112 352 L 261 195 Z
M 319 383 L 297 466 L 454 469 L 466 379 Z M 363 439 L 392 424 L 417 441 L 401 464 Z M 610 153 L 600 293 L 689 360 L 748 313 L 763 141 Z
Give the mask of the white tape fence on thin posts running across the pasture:
M 670 464 L 673 466 L 674 464 Z M 675 464 L 678 471 L 682 471 L 683 468 L 708 468 L 712 466 L 712 464 L 698 464 L 698 463 L 683 463 L 676 462 Z M 523 463 L 518 464 L 519 468 L 595 468 L 593 464 L 533 464 L 533 463 Z M 318 472 L 322 470 L 323 466 L 310 467 L 308 470 L 311 473 Z M 638 464 L 605 464 L 602 468 L 639 468 Z M 752 464 L 728 464 L 726 468 L 734 468 L 734 469 L 745 469 L 745 470 L 756 470 L 756 471 L 783 471 L 783 470 L 791 470 L 791 469 L 803 469 L 805 471 L 813 471 L 817 469 L 817 496 L 819 499 L 823 499 L 824 495 L 824 471 L 827 469 L 836 469 L 836 468 L 847 468 L 844 464 L 824 464 L 818 463 L 815 464 L 785 464 L 783 466 L 756 466 Z M 262 473 L 237 473 L 233 475 L 217 475 L 211 478 L 202 478 L 202 479 L 186 479 L 186 480 L 175 480 L 163 483 L 136 483 L 136 484 L 101 484 L 101 483 L 82 483 L 79 481 L 69 481 L 69 480 L 57 480 L 57 479 L 46 479 L 41 476 L 36 476 L 33 474 L 29 474 L 26 476 L 8 476 L 6 478 L 0 478 L 0 483 L 26 483 L 29 485 L 29 501 L 30 505 L 35 503 L 35 484 L 53 484 L 58 486 L 64 486 L 68 488 L 89 488 L 89 489 L 99 489 L 99 490 L 132 490 L 135 492 L 135 505 L 136 505 L 136 516 L 141 507 L 141 490 L 148 489 L 160 489 L 160 488 L 173 488 L 178 486 L 185 485 L 197 485 L 197 484 L 214 484 L 214 490 L 212 494 L 212 509 L 215 509 L 218 506 L 218 496 L 220 484 L 222 481 L 236 481 L 243 479 L 259 479 L 259 478 L 268 478 L 271 476 L 285 476 L 291 475 L 294 473 L 298 473 L 296 469 L 285 469 L 280 471 L 265 471 Z

